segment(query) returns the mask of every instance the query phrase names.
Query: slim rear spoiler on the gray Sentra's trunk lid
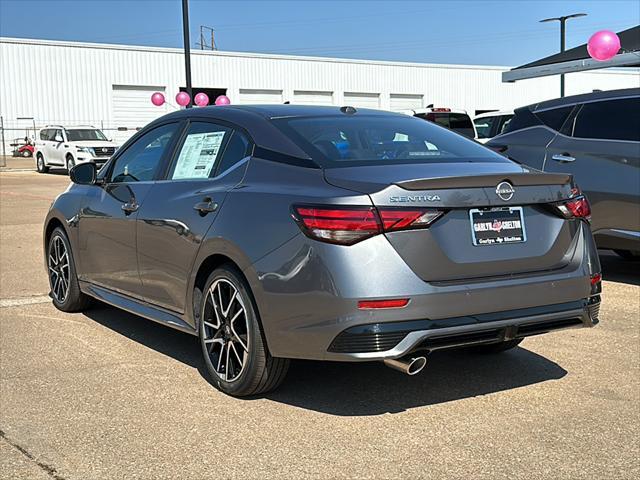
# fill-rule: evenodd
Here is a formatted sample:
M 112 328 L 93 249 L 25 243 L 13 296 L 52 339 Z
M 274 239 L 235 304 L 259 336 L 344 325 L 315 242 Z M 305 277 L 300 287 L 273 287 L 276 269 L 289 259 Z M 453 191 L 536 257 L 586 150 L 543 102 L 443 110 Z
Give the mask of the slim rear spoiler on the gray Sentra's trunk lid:
M 468 175 L 461 177 L 422 178 L 395 182 L 405 190 L 432 190 L 446 188 L 484 188 L 509 182 L 514 187 L 535 185 L 573 184 L 573 175 L 568 173 L 498 173 L 491 175 Z

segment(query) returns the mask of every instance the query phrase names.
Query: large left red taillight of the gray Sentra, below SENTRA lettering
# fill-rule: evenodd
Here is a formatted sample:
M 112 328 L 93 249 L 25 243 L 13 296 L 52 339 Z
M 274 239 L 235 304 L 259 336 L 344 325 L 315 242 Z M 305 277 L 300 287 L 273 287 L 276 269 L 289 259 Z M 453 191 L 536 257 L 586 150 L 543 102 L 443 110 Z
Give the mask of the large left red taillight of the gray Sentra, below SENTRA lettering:
M 293 207 L 293 218 L 308 237 L 341 245 L 353 245 L 383 232 L 426 228 L 443 213 L 431 208 Z

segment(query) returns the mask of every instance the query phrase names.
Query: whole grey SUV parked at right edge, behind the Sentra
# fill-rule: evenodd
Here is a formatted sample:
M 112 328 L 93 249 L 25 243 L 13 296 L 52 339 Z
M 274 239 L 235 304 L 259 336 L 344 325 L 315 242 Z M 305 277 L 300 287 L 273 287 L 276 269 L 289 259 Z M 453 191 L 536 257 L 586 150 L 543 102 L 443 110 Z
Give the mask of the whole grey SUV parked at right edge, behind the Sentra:
M 519 108 L 487 143 L 545 172 L 572 174 L 591 202 L 598 247 L 640 258 L 640 88 Z

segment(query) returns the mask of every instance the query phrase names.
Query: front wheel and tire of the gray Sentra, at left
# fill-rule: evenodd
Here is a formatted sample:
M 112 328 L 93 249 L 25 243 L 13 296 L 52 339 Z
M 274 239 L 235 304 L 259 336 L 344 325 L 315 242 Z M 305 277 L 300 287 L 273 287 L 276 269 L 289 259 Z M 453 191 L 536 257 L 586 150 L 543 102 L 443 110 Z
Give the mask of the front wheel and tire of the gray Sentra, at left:
M 51 233 L 47 244 L 47 267 L 51 299 L 58 310 L 79 312 L 90 305 L 90 297 L 80 291 L 71 245 L 60 227 Z

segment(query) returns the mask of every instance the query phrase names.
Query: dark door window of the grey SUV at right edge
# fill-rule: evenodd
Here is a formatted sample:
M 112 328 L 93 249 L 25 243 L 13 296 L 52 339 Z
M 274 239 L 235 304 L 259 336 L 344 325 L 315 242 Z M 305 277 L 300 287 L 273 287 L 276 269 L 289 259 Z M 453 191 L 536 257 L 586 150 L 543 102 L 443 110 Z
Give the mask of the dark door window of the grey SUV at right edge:
M 640 98 L 585 103 L 573 136 L 640 142 Z

